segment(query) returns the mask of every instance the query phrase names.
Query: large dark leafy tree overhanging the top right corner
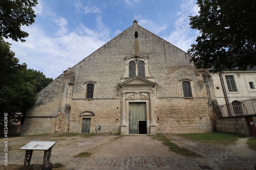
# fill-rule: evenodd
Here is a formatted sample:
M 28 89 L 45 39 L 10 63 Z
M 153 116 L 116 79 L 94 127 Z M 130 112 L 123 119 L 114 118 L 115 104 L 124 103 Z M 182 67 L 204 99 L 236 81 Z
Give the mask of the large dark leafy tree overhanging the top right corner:
M 216 70 L 256 65 L 256 1 L 198 0 L 199 15 L 189 16 L 200 31 L 188 54 L 197 68 Z

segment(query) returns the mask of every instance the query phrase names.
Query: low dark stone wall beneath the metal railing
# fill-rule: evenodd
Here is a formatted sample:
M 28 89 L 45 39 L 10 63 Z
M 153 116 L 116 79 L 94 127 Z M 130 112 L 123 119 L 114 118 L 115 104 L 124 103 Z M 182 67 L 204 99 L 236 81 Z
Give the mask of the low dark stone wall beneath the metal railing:
M 255 119 L 256 116 L 253 117 L 253 120 Z M 250 130 L 245 117 L 218 118 L 216 128 L 218 132 L 237 133 L 245 136 L 250 136 Z

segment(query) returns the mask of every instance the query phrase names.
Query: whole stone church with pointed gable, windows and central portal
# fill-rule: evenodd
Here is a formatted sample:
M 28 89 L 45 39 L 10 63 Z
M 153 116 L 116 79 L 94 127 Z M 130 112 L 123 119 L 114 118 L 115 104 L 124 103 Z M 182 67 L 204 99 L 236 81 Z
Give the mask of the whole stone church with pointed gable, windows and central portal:
M 211 132 L 212 80 L 190 58 L 134 20 L 37 94 L 22 134 Z

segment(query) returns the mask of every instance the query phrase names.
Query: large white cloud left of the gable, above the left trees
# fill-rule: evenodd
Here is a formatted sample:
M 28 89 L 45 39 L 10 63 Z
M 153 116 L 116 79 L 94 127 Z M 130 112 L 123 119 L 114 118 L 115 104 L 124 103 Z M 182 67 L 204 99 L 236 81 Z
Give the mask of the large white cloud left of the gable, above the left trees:
M 57 23 L 60 28 L 67 26 L 65 18 L 58 19 Z M 65 30 L 66 34 L 50 37 L 46 29 L 33 24 L 22 28 L 29 33 L 25 43 L 10 39 L 7 41 L 12 43 L 11 50 L 15 52 L 20 63 L 25 62 L 28 68 L 40 70 L 47 77 L 56 78 L 62 71 L 73 67 L 106 43 L 109 35 L 101 33 L 105 27 L 100 19 L 98 25 L 99 28 L 93 31 L 80 24 L 73 32 Z

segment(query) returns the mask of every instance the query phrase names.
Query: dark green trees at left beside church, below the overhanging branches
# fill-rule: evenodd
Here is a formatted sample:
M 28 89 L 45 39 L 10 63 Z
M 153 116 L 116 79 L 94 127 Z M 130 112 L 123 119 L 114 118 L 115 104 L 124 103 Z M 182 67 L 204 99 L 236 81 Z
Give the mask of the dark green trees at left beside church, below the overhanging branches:
M 52 79 L 40 71 L 27 69 L 25 63 L 19 64 L 10 45 L 0 37 L 0 118 L 8 113 L 8 120 L 13 121 L 20 118 L 16 113 L 25 116 L 26 110 L 36 101 L 36 93 Z

